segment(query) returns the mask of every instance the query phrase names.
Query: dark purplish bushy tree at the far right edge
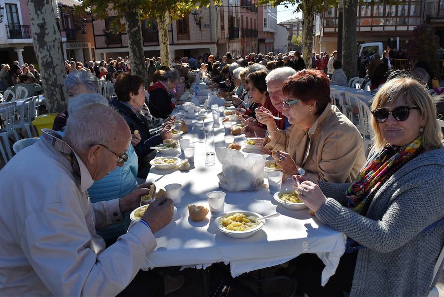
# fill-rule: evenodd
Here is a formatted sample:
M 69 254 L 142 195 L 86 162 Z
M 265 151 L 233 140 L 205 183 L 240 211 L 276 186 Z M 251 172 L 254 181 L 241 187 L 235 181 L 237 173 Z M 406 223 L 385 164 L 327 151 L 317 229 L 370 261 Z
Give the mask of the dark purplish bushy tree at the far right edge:
M 435 28 L 423 24 L 413 30 L 413 36 L 408 42 L 407 60 L 425 61 L 429 64 L 434 75 L 440 73 L 438 61 L 439 37 Z

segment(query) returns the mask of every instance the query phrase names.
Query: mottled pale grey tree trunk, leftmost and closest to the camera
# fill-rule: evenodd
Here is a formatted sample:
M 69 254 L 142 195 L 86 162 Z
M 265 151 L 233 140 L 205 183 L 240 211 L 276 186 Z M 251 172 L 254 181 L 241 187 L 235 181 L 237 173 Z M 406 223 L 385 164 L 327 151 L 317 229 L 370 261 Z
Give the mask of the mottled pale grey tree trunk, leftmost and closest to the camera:
M 52 1 L 28 0 L 34 52 L 43 83 L 45 105 L 50 113 L 66 110 L 66 68 L 61 49 L 62 36 L 57 29 Z

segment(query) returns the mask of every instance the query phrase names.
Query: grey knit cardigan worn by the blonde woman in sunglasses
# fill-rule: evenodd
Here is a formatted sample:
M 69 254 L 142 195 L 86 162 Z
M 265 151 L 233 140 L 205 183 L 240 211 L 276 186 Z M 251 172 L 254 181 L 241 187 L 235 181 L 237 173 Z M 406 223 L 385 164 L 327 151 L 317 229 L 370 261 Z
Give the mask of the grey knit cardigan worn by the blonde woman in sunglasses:
M 370 160 L 371 155 L 368 160 Z M 359 250 L 351 297 L 426 297 L 444 245 L 444 148 L 425 151 L 376 192 L 366 216 L 344 207 L 350 184 L 320 181 L 322 222 L 367 247 Z

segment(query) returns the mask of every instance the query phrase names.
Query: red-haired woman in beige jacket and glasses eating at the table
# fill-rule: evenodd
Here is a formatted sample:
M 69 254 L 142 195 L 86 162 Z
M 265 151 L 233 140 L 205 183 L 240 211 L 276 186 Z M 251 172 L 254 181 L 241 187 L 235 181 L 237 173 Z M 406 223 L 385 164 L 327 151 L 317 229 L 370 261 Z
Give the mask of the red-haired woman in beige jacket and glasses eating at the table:
M 282 92 L 283 114 L 291 127 L 280 129 L 263 107 L 256 113 L 268 129 L 265 147 L 276 164 L 292 175 L 301 168 L 315 180 L 351 182 L 365 162 L 362 136 L 332 105 L 327 75 L 299 71 L 285 81 Z

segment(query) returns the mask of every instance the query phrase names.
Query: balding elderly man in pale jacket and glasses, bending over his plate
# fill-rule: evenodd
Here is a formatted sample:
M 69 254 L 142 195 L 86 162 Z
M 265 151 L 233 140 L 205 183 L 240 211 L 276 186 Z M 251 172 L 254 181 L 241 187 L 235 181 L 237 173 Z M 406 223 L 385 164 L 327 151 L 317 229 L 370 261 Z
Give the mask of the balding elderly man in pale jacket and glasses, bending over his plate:
M 91 104 L 70 117 L 65 132 L 61 139 L 45 130 L 0 171 L 0 296 L 163 296 L 161 279 L 131 281 L 156 247 L 153 233 L 171 221 L 172 201 L 153 202 L 105 249 L 96 229 L 120 221 L 154 185 L 94 204 L 86 191 L 123 166 L 128 125 L 111 108 Z

